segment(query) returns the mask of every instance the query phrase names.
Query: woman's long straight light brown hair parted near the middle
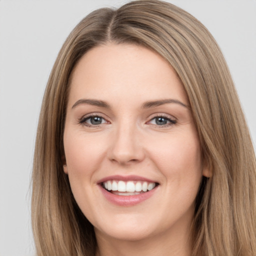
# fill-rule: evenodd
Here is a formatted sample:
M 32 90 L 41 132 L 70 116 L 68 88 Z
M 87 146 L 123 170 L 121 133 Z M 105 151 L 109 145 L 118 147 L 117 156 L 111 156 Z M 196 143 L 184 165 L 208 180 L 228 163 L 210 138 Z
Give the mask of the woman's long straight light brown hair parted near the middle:
M 193 221 L 193 255 L 256 255 L 256 161 L 221 51 L 186 11 L 137 0 L 91 12 L 69 34 L 41 106 L 32 174 L 32 228 L 38 256 L 93 256 L 93 226 L 78 208 L 62 169 L 69 77 L 81 56 L 104 43 L 143 45 L 166 59 L 187 93 L 199 134 L 203 178 Z

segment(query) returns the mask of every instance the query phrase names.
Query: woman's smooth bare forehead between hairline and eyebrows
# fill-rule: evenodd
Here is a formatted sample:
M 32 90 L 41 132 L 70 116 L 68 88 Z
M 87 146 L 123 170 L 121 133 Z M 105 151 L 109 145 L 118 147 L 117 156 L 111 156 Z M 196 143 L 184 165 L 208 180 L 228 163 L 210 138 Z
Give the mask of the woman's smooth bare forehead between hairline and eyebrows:
M 175 97 L 187 104 L 182 83 L 159 54 L 133 44 L 107 44 L 86 52 L 71 75 L 69 101 L 154 100 Z

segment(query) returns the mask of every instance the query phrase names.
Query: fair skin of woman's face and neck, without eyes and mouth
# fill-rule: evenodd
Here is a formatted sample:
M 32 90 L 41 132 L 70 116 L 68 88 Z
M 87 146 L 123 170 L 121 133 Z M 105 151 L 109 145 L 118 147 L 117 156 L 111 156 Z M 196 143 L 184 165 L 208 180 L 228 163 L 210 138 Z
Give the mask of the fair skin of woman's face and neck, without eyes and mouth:
M 80 99 L 103 100 L 109 107 Z M 163 99 L 182 104 L 141 107 Z M 85 120 L 91 114 L 102 122 Z M 166 124 L 157 123 L 156 116 Z M 208 172 L 186 93 L 161 56 L 114 43 L 85 53 L 71 75 L 64 152 L 74 198 L 95 229 L 97 256 L 190 255 L 194 201 Z M 159 185 L 136 205 L 115 205 L 97 181 L 116 174 L 139 175 Z

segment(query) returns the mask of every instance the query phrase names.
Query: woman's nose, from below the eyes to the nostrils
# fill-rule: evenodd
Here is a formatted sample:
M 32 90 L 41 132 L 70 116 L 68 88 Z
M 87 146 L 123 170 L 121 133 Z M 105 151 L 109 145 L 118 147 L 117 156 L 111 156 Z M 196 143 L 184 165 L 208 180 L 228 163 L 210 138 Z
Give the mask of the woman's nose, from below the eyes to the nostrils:
M 144 159 L 143 146 L 135 125 L 120 125 L 113 133 L 108 147 L 111 161 L 125 165 Z

